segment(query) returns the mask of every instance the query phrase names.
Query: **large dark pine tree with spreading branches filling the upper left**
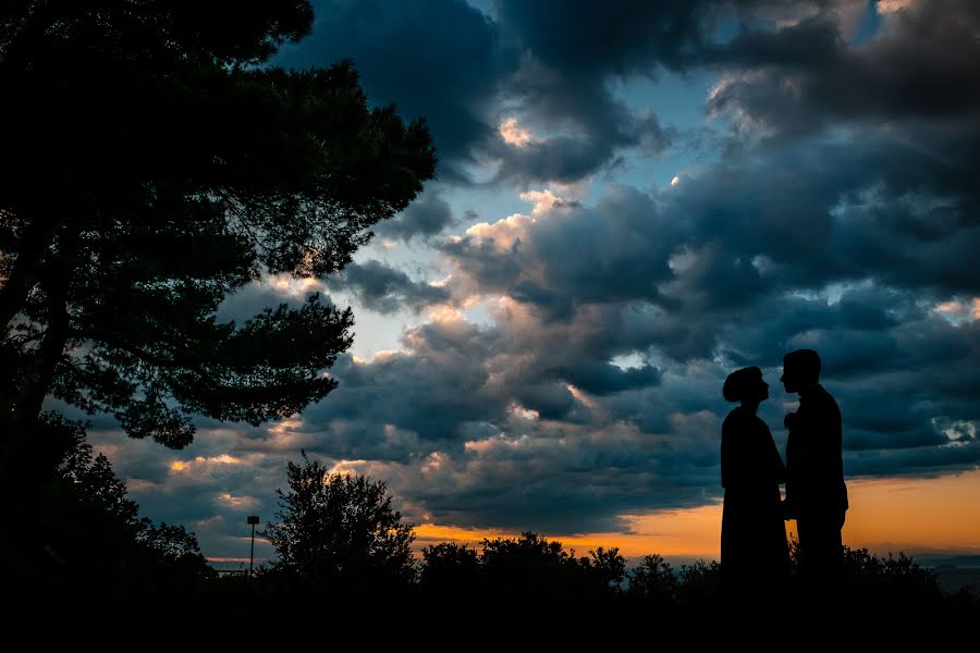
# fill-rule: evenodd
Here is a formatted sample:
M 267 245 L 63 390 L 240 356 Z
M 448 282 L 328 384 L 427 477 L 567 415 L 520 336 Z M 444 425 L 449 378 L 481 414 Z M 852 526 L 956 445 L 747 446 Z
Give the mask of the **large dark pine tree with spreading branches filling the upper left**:
M 350 310 L 216 319 L 262 275 L 336 272 L 433 174 L 425 124 L 368 108 L 350 64 L 268 65 L 311 21 L 303 0 L 0 5 L 9 486 L 48 394 L 182 447 L 193 414 L 258 424 L 335 386 Z

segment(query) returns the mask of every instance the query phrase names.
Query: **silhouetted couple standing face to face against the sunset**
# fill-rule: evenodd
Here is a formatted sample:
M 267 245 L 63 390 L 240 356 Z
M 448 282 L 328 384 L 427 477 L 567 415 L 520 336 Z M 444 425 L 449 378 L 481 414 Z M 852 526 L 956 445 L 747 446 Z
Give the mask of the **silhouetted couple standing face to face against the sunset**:
M 725 399 L 740 403 L 725 418 L 721 446 L 722 575 L 732 599 L 779 591 L 788 578 L 785 519 L 796 519 L 805 587 L 819 594 L 840 578 L 847 510 L 841 410 L 819 380 L 817 352 L 798 349 L 783 357 L 780 381 L 787 393 L 799 394 L 799 408 L 784 421 L 789 430 L 785 466 L 769 427 L 756 415 L 769 398 L 762 371 L 744 368 L 725 380 Z

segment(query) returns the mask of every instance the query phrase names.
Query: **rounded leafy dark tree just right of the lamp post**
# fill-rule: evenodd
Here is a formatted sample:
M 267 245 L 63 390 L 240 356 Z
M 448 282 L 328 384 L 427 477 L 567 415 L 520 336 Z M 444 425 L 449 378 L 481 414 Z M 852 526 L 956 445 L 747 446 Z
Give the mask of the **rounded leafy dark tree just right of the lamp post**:
M 278 491 L 280 522 L 261 532 L 279 556 L 273 575 L 314 592 L 377 590 L 414 581 L 414 526 L 402 522 L 383 481 L 340 475 L 303 453 Z

